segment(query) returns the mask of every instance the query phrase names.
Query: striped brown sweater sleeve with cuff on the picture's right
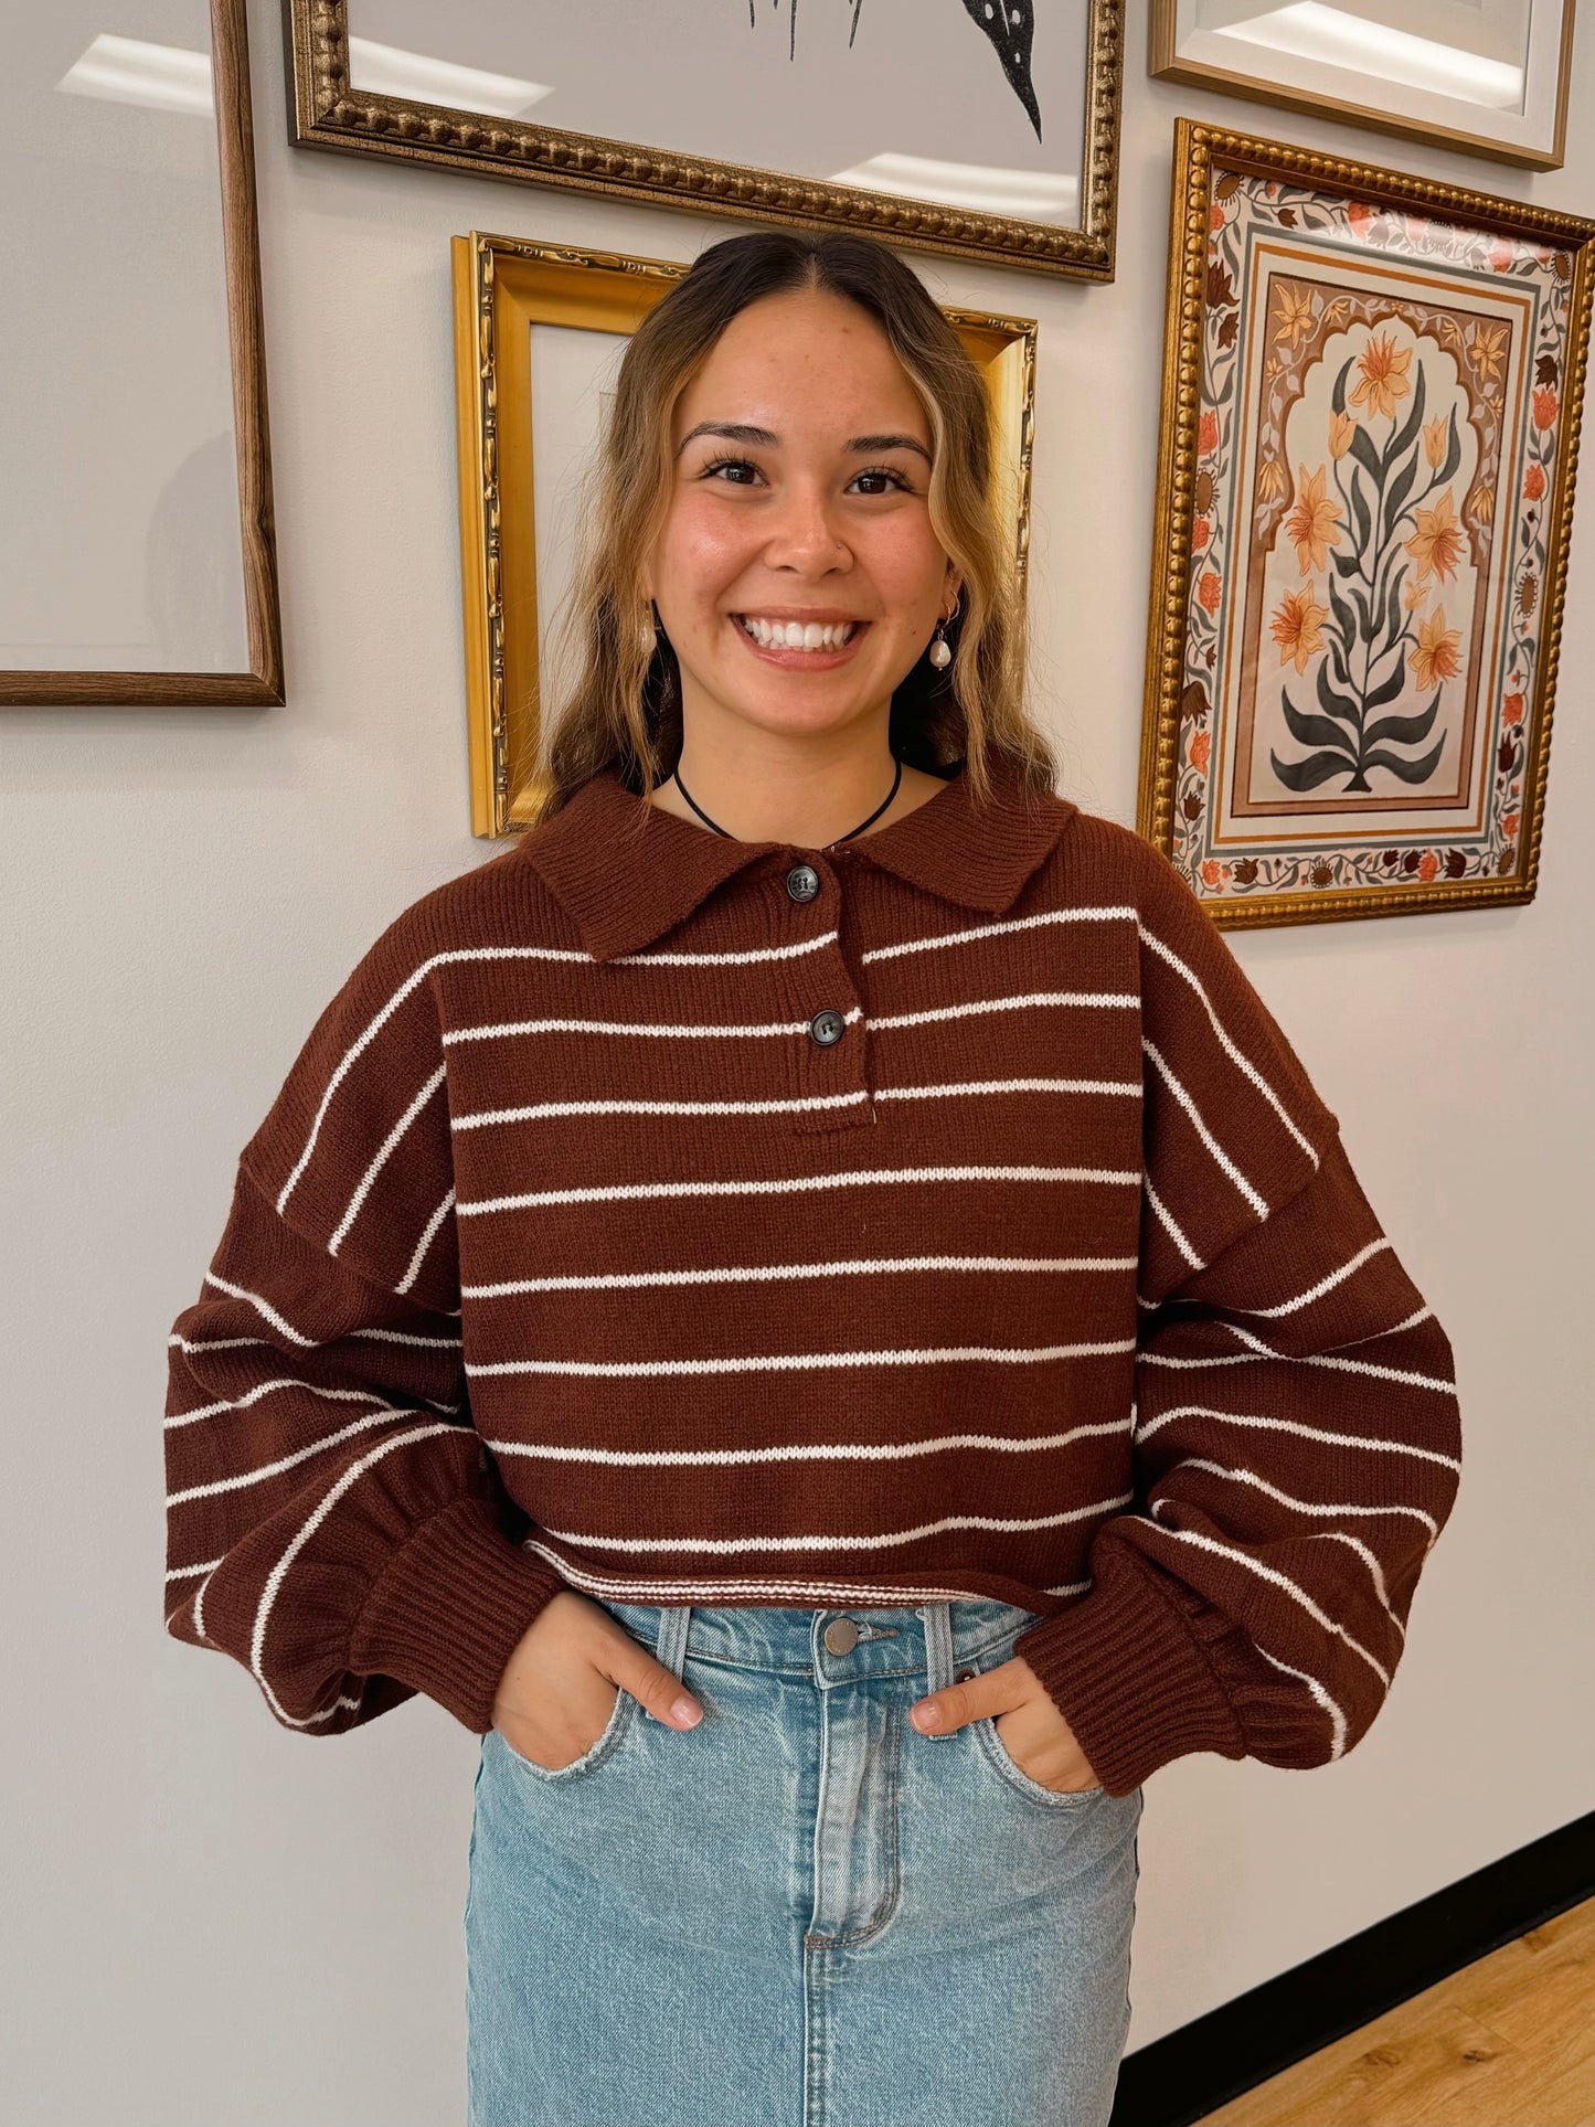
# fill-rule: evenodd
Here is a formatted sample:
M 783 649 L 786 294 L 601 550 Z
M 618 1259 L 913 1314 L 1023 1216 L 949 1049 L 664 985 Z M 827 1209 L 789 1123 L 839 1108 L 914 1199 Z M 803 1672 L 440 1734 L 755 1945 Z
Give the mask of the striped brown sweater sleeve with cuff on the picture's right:
M 1131 1512 L 1029 1627 L 1112 1795 L 1191 1751 L 1312 1768 L 1384 1704 L 1457 1497 L 1450 1342 L 1319 1100 L 1161 853 L 1140 902 Z

